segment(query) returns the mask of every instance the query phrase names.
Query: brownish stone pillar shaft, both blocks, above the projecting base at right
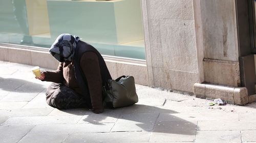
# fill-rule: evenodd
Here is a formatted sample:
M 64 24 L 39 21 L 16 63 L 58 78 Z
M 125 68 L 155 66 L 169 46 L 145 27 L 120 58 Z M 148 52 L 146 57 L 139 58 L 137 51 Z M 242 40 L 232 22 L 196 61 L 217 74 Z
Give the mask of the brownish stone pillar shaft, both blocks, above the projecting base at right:
M 240 86 L 236 6 L 234 0 L 200 1 L 204 80 Z

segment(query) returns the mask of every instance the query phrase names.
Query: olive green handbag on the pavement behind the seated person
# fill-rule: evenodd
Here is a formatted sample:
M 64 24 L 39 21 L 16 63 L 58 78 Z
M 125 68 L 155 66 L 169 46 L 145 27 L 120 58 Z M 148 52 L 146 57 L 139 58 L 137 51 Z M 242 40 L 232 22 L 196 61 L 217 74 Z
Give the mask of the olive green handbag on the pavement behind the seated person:
M 138 102 L 134 77 L 121 76 L 116 80 L 109 80 L 107 85 L 108 87 L 103 87 L 104 104 L 106 106 L 117 108 Z

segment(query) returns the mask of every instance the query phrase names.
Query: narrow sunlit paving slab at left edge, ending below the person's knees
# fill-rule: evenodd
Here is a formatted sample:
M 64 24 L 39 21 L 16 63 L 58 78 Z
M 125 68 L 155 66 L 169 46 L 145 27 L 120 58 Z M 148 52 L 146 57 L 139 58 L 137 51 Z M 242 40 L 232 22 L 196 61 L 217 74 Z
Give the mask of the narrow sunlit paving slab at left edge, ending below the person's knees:
M 51 108 L 33 108 L 33 109 L 12 109 L 12 110 L 0 110 L 0 116 L 46 116 L 53 109 Z

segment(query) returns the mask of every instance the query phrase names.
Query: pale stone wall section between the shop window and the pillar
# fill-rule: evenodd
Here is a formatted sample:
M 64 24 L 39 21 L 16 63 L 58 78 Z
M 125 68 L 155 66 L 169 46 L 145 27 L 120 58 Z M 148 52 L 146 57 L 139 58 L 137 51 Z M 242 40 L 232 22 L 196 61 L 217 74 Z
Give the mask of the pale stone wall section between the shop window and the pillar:
M 199 82 L 193 0 L 141 0 L 150 86 L 193 92 Z

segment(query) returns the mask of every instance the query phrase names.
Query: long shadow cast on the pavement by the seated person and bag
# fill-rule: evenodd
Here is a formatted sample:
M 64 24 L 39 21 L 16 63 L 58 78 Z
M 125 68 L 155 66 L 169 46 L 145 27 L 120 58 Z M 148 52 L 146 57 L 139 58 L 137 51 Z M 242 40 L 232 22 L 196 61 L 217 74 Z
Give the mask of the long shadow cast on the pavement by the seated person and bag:
M 80 112 L 75 111 L 75 109 L 61 111 L 75 115 L 86 115 L 84 116 L 85 118 L 83 118 L 83 122 L 99 126 L 105 125 L 104 123 L 109 123 L 109 119 L 107 119 L 109 117 L 114 119 L 118 118 L 118 121 L 113 127 L 113 131 L 137 131 L 142 129 L 148 132 L 195 135 L 197 128 L 196 124 L 175 116 L 175 114 L 179 112 L 161 109 L 155 106 L 137 104 L 116 109 L 106 108 L 101 114 L 94 114 L 88 109 L 78 110 L 80 110 Z M 130 125 L 133 127 L 129 127 Z

